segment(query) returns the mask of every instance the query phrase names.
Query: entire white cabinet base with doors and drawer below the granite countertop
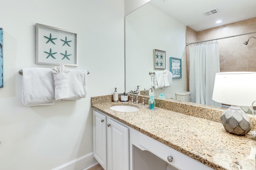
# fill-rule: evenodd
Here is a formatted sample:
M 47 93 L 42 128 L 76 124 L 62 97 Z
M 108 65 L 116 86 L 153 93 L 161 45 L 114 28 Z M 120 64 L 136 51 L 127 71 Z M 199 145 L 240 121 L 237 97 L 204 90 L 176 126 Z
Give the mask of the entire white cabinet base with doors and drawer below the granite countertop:
M 93 140 L 94 158 L 104 170 L 151 170 L 155 169 L 155 166 L 159 170 L 212 170 L 201 162 L 96 110 L 93 111 Z M 134 150 L 135 147 L 143 152 Z M 151 152 L 163 161 L 144 151 Z M 134 160 L 135 152 L 143 158 Z M 148 167 L 151 164 L 153 165 Z

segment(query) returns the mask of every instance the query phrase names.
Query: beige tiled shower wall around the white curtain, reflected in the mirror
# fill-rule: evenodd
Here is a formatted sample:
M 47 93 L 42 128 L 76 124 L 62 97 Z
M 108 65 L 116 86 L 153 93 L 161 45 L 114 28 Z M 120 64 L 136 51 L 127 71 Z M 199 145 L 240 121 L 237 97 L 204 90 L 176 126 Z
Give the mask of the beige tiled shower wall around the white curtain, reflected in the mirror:
M 186 43 L 229 37 L 255 31 L 256 18 L 238 21 L 198 32 L 194 31 L 190 27 L 186 27 Z M 244 41 L 247 41 L 248 38 L 252 36 L 256 37 L 256 33 L 213 41 L 219 43 L 220 72 L 256 71 L 256 39 L 251 38 L 248 45 L 243 44 Z M 189 46 L 190 45 L 186 48 L 188 69 Z

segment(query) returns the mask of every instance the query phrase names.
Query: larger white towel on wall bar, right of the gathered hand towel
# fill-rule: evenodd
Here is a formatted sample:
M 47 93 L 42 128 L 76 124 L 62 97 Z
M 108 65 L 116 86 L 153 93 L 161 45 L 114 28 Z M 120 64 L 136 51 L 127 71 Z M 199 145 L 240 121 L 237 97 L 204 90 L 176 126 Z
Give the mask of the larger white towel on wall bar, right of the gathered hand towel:
M 64 100 L 79 100 L 87 94 L 87 70 L 70 68 L 68 75 L 68 98 Z

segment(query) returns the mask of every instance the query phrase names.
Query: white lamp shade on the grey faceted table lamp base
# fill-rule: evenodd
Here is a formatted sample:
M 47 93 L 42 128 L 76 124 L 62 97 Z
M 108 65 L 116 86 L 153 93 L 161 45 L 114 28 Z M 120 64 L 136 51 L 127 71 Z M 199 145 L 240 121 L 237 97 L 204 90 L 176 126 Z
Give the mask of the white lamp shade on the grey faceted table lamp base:
M 256 100 L 256 72 L 216 73 L 212 100 L 235 106 L 252 106 Z

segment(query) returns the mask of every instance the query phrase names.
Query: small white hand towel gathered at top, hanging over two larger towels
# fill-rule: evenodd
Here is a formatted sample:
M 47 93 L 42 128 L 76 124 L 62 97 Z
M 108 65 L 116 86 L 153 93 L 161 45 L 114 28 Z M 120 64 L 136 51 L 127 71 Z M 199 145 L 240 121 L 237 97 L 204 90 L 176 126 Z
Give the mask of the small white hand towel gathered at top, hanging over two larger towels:
M 52 68 L 54 81 L 54 94 L 55 100 L 67 99 L 68 98 L 68 75 L 70 72 L 68 67 L 64 65 L 56 66 Z

